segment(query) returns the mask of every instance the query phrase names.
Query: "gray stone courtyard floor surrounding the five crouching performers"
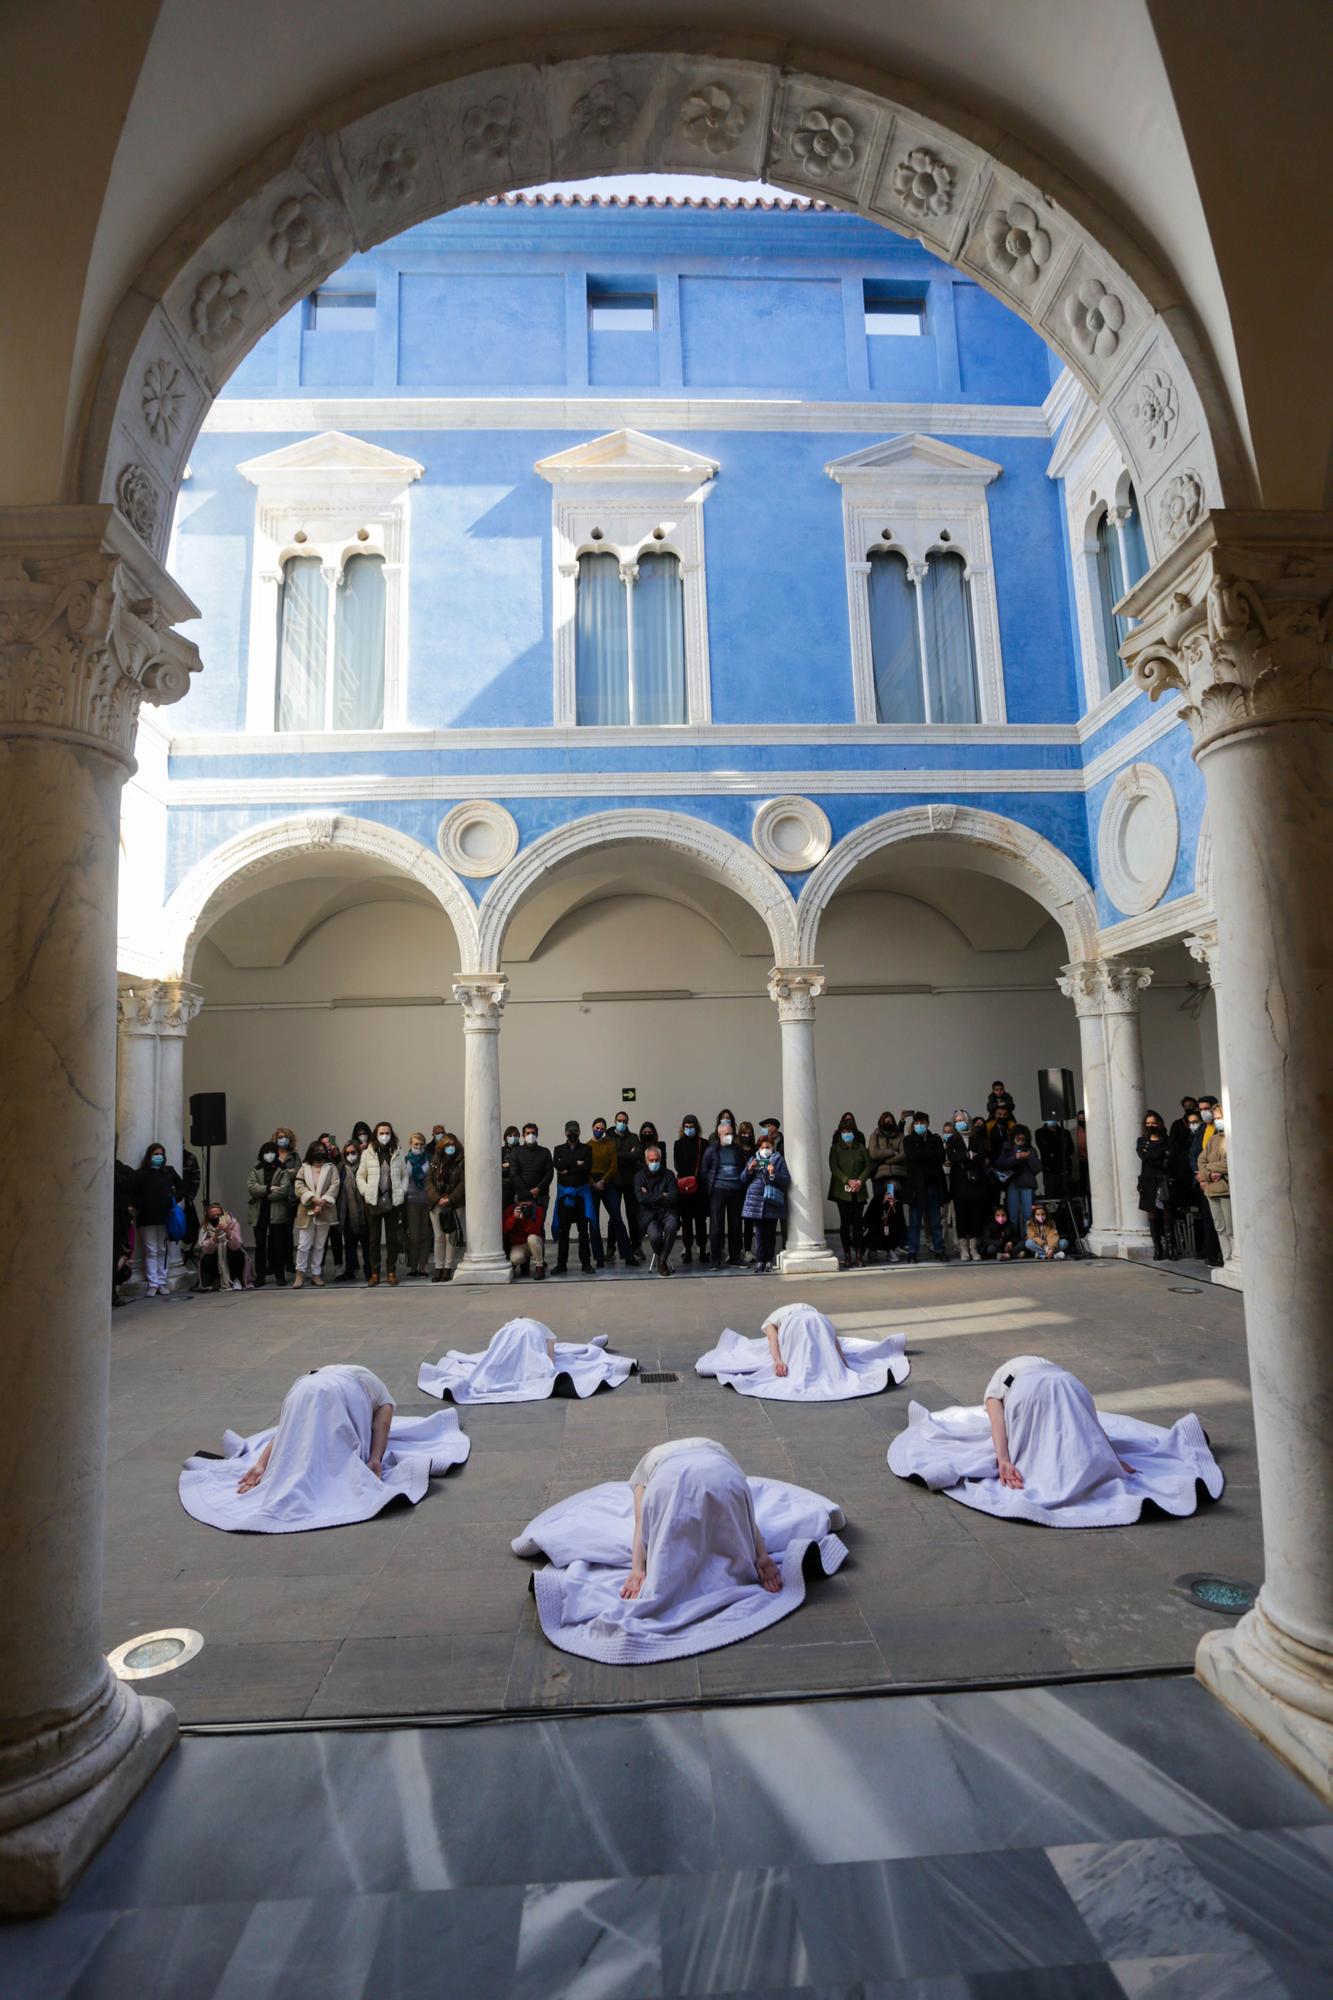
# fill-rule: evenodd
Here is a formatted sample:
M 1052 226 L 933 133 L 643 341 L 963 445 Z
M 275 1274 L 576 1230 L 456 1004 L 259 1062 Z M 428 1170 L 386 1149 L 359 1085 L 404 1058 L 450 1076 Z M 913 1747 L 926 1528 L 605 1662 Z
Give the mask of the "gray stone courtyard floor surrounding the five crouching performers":
M 1185 1290 L 1173 1290 L 1185 1286 Z M 919 1266 L 819 1280 L 849 1332 L 901 1328 L 913 1374 L 845 1406 L 737 1396 L 693 1374 L 727 1324 L 757 1332 L 791 1296 L 737 1272 L 548 1280 L 508 1290 L 328 1284 L 144 1300 L 114 1316 L 106 1648 L 188 1624 L 204 1650 L 156 1680 L 184 1722 L 558 1710 L 889 1684 L 973 1684 L 1071 1670 L 1185 1666 L 1217 1622 L 1173 1590 L 1185 1572 L 1257 1580 L 1259 1488 L 1241 1302 L 1163 1268 Z M 472 1458 L 416 1508 L 356 1528 L 220 1534 L 176 1498 L 180 1460 L 224 1426 L 272 1422 L 292 1378 L 368 1362 L 404 1410 L 422 1358 L 480 1348 L 512 1312 L 560 1336 L 608 1332 L 644 1368 L 588 1402 L 462 1414 Z M 889 1472 L 909 1396 L 975 1400 L 995 1362 L 1045 1352 L 1109 1406 L 1151 1420 L 1197 1410 L 1227 1472 L 1223 1500 L 1183 1522 L 1063 1534 L 1001 1524 Z M 749 1472 L 799 1480 L 847 1510 L 851 1560 L 771 1634 L 697 1660 L 606 1668 L 540 1636 L 530 1566 L 508 1540 L 550 1500 L 622 1476 L 660 1438 L 705 1432 Z

